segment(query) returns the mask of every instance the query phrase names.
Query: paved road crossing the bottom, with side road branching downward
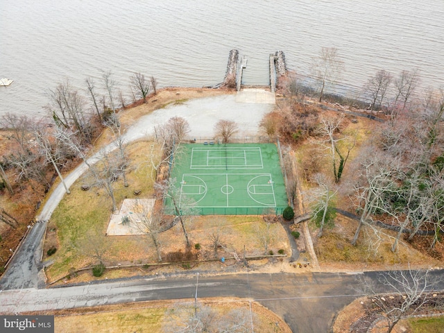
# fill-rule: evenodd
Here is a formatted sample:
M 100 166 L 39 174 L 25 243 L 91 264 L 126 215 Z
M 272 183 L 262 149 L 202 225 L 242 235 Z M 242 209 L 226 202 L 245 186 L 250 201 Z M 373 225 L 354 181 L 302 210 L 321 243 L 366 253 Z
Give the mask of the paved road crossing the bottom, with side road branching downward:
M 286 321 L 293 332 L 328 332 L 336 314 L 361 296 L 361 278 L 377 281 L 384 272 L 346 273 L 243 273 L 202 276 L 198 297 L 256 300 Z M 432 271 L 440 276 L 443 270 Z M 380 285 L 380 292 L 388 291 Z M 436 289 L 443 289 L 444 285 Z M 51 289 L 2 291 L 2 312 L 51 311 L 145 300 L 193 299 L 196 275 L 85 284 Z

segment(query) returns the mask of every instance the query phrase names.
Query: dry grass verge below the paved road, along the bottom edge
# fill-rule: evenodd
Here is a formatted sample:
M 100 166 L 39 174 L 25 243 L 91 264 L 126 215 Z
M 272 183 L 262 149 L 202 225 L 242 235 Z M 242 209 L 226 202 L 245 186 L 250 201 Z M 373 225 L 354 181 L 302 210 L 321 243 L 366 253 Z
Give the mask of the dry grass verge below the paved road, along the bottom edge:
M 246 301 L 222 298 L 218 300 L 202 299 L 200 305 L 211 307 L 218 313 L 230 309 L 249 309 Z M 58 311 L 55 318 L 56 332 L 164 332 L 162 324 L 169 309 L 178 309 L 192 305 L 190 300 L 137 302 L 126 305 L 95 307 Z M 255 332 L 289 333 L 291 330 L 282 321 L 262 305 L 251 303 L 253 314 L 258 318 Z M 104 324 L 106 323 L 106 324 Z

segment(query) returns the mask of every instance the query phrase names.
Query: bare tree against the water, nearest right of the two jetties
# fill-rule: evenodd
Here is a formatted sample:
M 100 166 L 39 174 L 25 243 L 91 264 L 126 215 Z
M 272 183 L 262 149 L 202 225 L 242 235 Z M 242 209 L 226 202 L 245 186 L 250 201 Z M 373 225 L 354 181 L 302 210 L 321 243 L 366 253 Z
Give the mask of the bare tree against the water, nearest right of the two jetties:
M 325 89 L 341 76 L 343 70 L 343 61 L 335 47 L 323 47 L 319 56 L 312 58 L 311 71 L 318 81 L 319 102 L 323 99 Z

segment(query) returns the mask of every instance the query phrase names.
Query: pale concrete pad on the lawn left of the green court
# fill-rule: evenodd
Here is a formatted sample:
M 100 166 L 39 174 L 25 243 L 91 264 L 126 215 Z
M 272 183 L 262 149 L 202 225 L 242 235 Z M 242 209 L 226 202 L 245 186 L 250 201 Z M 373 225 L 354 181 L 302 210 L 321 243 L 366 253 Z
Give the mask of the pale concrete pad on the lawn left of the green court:
M 145 234 L 138 206 L 144 205 L 149 212 L 153 210 L 155 199 L 125 199 L 121 205 L 119 214 L 112 214 L 106 234 L 108 236 L 123 236 L 131 234 Z M 128 216 L 128 223 L 123 224 L 122 219 Z

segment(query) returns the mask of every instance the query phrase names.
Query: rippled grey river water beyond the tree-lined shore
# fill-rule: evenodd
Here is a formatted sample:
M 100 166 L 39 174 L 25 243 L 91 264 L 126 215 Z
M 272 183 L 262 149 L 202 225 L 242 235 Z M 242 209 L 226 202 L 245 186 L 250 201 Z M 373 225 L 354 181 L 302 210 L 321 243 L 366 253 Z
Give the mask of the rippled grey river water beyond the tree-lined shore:
M 128 101 L 139 71 L 159 86 L 220 83 L 228 52 L 248 58 L 244 83 L 268 84 L 268 55 L 309 75 L 335 46 L 341 84 L 358 92 L 378 69 L 420 70 L 422 87 L 444 78 L 444 1 L 386 0 L 0 0 L 0 115 L 44 114 L 48 89 L 112 71 Z

